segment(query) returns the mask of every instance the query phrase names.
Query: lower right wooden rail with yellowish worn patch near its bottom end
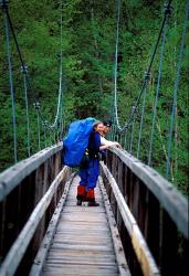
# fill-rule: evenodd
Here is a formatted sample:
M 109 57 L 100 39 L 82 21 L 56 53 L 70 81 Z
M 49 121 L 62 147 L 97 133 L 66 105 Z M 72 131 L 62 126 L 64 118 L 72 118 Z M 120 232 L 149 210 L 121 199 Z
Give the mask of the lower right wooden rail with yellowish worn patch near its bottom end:
M 124 224 L 128 231 L 128 234 L 132 238 L 132 244 L 134 247 L 134 251 L 136 253 L 136 256 L 138 258 L 138 262 L 141 265 L 141 270 L 145 276 L 157 276 L 160 275 L 160 272 L 156 265 L 156 262 L 148 248 L 148 245 L 137 225 L 137 222 L 135 221 L 133 214 L 130 213 L 123 194 L 120 193 L 118 185 L 111 174 L 107 167 L 101 162 L 101 166 L 103 168 L 103 171 L 113 189 L 114 195 L 117 201 L 118 209 L 120 211 Z

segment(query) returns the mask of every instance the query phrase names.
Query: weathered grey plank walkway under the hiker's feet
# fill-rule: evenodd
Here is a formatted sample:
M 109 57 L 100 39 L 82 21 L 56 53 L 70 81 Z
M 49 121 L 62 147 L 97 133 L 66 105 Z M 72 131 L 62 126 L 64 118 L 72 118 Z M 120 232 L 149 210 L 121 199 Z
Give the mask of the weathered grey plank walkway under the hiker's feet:
M 96 188 L 99 206 L 88 208 L 87 203 L 77 206 L 77 183 L 78 177 L 74 178 L 69 191 L 42 275 L 130 275 L 123 257 L 122 244 L 122 248 L 117 248 L 117 242 L 113 243 L 114 235 L 99 188 Z M 119 265 L 122 262 L 122 269 L 117 263 L 116 250 L 122 255 L 118 261 Z

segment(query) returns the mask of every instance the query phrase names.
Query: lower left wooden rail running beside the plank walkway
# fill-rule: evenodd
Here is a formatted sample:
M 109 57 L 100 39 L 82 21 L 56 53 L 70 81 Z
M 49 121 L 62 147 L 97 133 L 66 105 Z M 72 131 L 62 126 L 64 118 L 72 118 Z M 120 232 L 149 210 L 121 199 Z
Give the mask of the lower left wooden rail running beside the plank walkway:
M 44 215 L 48 206 L 50 205 L 51 200 L 67 170 L 70 170 L 70 168 L 65 166 L 63 170 L 54 179 L 46 193 L 43 195 L 41 201 L 33 210 L 23 230 L 20 232 L 18 238 L 11 246 L 10 251 L 6 256 L 6 259 L 3 261 L 0 267 L 1 276 L 11 276 L 15 273 L 42 216 Z

